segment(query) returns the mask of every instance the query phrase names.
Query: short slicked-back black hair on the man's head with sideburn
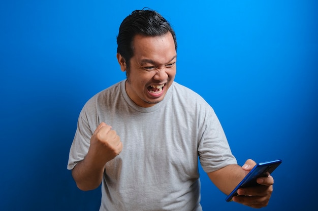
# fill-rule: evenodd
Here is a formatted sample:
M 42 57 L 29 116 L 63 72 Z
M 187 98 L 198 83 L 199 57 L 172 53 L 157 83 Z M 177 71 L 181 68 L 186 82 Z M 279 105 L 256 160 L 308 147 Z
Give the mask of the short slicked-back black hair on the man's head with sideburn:
M 158 12 L 150 9 L 135 10 L 120 24 L 117 36 L 117 53 L 126 62 L 126 75 L 129 76 L 130 59 L 134 56 L 133 39 L 137 34 L 161 36 L 171 33 L 177 50 L 177 39 L 170 23 Z

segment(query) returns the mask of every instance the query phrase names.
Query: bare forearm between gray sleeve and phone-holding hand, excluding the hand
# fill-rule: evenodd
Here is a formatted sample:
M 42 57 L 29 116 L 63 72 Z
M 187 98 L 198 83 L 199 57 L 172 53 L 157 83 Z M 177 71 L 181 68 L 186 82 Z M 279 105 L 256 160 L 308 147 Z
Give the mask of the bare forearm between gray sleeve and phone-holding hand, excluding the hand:
M 220 191 L 228 195 L 246 174 L 247 172 L 244 171 L 241 166 L 232 164 L 215 172 L 210 172 L 208 173 L 208 176 Z

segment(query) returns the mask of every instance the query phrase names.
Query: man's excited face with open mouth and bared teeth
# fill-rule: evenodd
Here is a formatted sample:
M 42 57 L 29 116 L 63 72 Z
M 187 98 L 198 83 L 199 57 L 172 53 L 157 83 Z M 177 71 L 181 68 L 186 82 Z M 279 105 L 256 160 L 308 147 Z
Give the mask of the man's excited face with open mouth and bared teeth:
M 133 46 L 126 92 L 138 106 L 150 107 L 164 99 L 174 80 L 174 40 L 170 32 L 163 36 L 136 35 Z

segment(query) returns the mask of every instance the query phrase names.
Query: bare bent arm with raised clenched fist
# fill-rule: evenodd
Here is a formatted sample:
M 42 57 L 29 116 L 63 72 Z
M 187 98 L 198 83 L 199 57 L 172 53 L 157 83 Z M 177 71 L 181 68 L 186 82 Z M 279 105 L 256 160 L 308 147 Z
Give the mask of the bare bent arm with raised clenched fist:
M 84 191 L 97 188 L 102 182 L 105 164 L 121 150 L 119 136 L 111 126 L 102 122 L 90 139 L 87 155 L 72 170 L 77 187 Z

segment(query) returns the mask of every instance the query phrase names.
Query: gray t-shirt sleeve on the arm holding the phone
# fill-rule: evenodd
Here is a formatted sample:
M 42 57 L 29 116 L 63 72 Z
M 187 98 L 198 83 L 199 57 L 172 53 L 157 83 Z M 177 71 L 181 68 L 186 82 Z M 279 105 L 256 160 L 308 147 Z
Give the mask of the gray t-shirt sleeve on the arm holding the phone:
M 214 110 L 208 109 L 204 114 L 198 143 L 198 154 L 203 170 L 209 173 L 229 164 L 237 164 Z

